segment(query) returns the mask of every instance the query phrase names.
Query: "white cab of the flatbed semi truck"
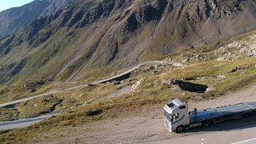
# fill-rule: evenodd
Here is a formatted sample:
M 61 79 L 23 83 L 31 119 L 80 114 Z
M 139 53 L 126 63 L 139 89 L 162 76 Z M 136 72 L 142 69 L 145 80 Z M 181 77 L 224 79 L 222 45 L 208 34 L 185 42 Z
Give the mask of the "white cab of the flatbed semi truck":
M 170 132 L 181 133 L 190 127 L 190 117 L 185 102 L 178 98 L 164 106 L 164 123 Z

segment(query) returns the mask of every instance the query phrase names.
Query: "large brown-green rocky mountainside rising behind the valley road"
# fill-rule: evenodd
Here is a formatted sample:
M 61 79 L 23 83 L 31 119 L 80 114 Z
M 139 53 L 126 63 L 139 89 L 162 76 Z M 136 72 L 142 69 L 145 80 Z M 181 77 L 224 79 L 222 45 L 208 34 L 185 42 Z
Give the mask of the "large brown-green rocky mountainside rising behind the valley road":
M 76 0 L 2 39 L 0 83 L 83 80 L 255 28 L 255 0 Z

